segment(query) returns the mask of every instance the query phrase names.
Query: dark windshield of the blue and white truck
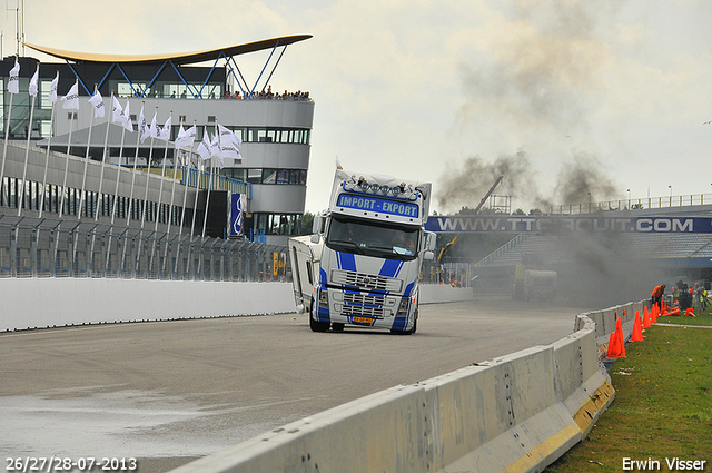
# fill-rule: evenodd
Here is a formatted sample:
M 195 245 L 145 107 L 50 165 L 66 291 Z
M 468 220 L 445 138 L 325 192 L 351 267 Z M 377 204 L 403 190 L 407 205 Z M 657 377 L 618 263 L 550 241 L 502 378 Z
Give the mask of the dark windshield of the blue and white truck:
M 418 227 L 335 215 L 329 223 L 326 246 L 337 252 L 408 260 L 417 257 L 418 235 Z

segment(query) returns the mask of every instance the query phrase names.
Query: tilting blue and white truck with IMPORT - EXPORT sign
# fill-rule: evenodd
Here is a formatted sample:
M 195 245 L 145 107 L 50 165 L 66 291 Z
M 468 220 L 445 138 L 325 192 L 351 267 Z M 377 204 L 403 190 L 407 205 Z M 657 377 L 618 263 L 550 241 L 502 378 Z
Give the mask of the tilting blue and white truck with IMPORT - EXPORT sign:
M 424 228 L 431 187 L 337 168 L 314 235 L 289 240 L 297 311 L 312 331 L 415 333 L 421 266 L 435 248 Z

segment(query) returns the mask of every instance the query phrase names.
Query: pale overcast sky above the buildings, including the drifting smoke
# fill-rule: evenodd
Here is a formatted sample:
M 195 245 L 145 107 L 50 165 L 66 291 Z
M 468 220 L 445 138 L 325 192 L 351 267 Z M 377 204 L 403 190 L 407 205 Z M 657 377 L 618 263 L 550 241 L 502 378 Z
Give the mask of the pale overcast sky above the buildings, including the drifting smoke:
M 6 0 L 4 56 L 17 1 Z M 669 186 L 712 201 L 711 26 L 703 0 L 24 1 L 27 42 L 82 52 L 313 35 L 271 79 L 316 104 L 312 211 L 328 205 L 337 157 L 432 181 L 438 213 L 474 207 L 498 174 L 512 209 Z M 266 56 L 236 59 L 253 83 Z

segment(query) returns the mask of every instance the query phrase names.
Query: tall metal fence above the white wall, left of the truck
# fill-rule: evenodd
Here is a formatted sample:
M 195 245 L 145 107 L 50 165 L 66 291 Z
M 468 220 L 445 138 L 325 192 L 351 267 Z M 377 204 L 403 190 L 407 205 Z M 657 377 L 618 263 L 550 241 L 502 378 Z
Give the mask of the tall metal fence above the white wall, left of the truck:
M 0 215 L 0 277 L 286 280 L 285 246 Z

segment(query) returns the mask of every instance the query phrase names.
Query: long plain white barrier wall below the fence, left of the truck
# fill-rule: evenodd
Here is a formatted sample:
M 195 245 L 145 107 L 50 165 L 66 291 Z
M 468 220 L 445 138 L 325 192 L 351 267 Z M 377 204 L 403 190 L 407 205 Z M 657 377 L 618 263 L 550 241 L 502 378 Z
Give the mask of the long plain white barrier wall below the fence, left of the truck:
M 287 283 L 0 279 L 0 329 L 294 312 Z

